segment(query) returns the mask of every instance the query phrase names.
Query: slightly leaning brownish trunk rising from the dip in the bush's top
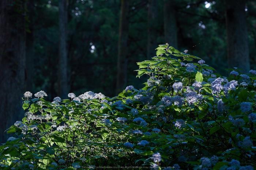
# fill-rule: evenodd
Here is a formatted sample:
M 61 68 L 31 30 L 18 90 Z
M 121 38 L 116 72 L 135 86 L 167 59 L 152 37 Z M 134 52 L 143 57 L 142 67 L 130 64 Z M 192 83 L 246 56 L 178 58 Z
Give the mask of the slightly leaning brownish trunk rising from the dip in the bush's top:
M 116 94 L 124 90 L 125 86 L 127 85 L 128 30 L 129 30 L 129 0 L 121 0 Z

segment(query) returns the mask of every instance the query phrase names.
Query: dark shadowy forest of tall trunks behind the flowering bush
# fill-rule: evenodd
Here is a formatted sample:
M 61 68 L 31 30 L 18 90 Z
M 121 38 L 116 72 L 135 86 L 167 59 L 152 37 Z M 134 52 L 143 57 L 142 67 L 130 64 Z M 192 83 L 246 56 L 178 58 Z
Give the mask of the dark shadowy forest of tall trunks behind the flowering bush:
M 1 0 L 0 142 L 24 117 L 22 97 L 143 87 L 136 62 L 159 44 L 188 50 L 223 76 L 256 70 L 253 0 Z

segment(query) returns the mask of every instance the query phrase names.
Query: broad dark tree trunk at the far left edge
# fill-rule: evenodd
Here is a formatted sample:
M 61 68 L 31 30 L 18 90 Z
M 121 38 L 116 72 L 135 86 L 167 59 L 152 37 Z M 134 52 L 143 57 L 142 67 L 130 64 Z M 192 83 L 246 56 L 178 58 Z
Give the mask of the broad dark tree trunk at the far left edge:
M 0 0 L 0 143 L 12 134 L 4 134 L 22 120 L 25 93 L 25 16 L 26 0 Z

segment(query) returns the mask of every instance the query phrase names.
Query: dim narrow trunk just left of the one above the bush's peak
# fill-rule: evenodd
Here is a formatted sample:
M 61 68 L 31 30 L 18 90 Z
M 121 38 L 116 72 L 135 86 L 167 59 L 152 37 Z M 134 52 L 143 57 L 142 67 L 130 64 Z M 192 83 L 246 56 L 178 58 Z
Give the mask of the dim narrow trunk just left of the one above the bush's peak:
M 149 0 L 148 5 L 147 59 L 151 59 L 157 48 L 157 0 Z

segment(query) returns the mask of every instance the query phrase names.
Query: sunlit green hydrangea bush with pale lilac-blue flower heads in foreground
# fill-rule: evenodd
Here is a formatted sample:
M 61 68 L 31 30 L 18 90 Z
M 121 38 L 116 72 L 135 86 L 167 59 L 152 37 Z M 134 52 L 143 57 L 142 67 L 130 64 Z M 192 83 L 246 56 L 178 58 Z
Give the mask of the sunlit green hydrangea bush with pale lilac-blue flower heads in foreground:
M 187 52 L 159 45 L 138 63 L 144 88 L 113 98 L 50 102 L 26 92 L 25 117 L 0 146 L 1 169 L 256 169 L 256 71 L 222 77 Z

